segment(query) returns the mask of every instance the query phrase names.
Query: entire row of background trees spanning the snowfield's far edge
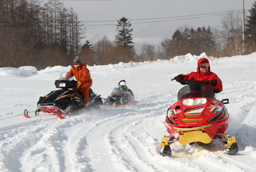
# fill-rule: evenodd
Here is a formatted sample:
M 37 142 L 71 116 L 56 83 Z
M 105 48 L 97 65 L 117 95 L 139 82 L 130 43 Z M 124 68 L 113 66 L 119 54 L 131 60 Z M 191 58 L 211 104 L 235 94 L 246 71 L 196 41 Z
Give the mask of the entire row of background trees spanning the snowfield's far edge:
M 129 61 L 170 60 L 187 53 L 225 57 L 256 51 L 256 2 L 246 18 L 243 42 L 242 13 L 229 11 L 220 25 L 193 28 L 180 26 L 157 46 L 143 42 L 135 50 L 133 29 L 127 18 L 117 21 L 115 40 L 104 36 L 81 44 L 85 26 L 71 7 L 59 0 L 0 0 L 0 67 L 72 65 L 80 55 L 89 66 Z M 244 46 L 243 46 L 244 45 Z

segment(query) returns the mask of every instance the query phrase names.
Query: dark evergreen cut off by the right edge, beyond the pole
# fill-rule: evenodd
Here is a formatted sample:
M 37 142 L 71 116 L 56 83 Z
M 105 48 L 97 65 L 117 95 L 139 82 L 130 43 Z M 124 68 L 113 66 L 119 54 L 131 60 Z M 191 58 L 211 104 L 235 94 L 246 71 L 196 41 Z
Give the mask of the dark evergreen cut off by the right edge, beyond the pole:
M 245 42 L 251 44 L 256 43 L 256 2 L 252 4 L 252 8 L 249 10 L 250 15 L 247 16 L 247 24 L 245 30 Z

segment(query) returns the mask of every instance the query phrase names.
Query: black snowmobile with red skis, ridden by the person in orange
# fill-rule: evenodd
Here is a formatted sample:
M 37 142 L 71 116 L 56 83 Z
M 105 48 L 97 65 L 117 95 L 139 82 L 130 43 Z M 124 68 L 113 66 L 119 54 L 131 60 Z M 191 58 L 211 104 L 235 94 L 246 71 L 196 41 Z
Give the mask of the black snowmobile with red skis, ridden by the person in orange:
M 67 73 L 61 73 L 61 77 L 58 80 L 55 80 L 54 85 L 56 88 L 61 88 L 61 90 L 55 90 L 47 95 L 40 97 L 37 102 L 37 110 L 35 115 L 38 116 L 39 112 L 46 113 L 58 113 L 57 117 L 64 119 L 61 116 L 61 113 L 68 113 L 70 115 L 72 112 L 79 111 L 83 108 L 94 107 L 99 109 L 102 105 L 101 95 L 97 95 L 90 88 L 88 103 L 85 106 L 82 102 L 81 95 L 77 91 L 71 90 L 72 88 L 77 87 L 77 81 Z M 24 111 L 24 117 L 30 118 L 26 111 Z

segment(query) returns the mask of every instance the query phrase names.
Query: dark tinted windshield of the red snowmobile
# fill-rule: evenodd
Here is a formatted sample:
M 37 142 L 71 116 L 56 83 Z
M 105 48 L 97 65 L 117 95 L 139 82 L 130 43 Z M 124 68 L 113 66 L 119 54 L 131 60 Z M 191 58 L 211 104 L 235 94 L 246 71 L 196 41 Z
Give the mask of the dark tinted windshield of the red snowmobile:
M 206 97 L 210 99 L 215 98 L 214 89 L 211 86 L 207 85 L 189 85 L 184 86 L 178 92 L 178 100 L 188 99 L 188 98 L 199 98 Z

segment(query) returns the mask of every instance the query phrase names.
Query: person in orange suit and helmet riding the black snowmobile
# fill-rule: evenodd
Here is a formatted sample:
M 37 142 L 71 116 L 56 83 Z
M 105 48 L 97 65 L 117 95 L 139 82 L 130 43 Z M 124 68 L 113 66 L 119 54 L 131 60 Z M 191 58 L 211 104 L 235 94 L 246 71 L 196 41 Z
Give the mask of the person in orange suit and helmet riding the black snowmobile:
M 74 76 L 77 80 L 76 90 L 80 95 L 82 94 L 82 101 L 84 105 L 87 105 L 89 98 L 89 89 L 93 84 L 91 79 L 90 71 L 86 66 L 86 62 L 81 63 L 81 57 L 77 56 L 74 58 L 74 66 L 68 72 L 71 76 Z

